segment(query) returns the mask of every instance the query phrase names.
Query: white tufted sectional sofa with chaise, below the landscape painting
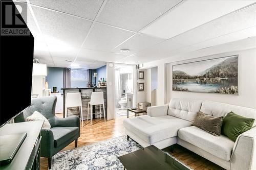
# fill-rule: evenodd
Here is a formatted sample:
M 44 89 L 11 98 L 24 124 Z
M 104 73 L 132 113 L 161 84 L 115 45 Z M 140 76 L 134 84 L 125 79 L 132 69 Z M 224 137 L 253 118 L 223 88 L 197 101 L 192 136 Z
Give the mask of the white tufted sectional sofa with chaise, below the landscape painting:
M 230 111 L 256 119 L 256 110 L 211 101 L 172 99 L 168 105 L 148 107 L 147 115 L 125 119 L 125 133 L 147 147 L 163 149 L 178 143 L 202 157 L 232 170 L 256 169 L 256 120 L 236 142 L 191 126 L 198 111 L 226 116 Z

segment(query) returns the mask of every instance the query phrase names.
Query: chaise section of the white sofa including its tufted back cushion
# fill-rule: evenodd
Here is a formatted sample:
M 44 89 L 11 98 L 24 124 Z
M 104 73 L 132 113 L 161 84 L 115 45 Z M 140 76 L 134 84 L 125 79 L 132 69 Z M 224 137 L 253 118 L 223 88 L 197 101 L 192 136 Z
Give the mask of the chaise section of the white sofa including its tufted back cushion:
M 173 99 L 169 105 L 148 107 L 147 115 L 125 119 L 125 133 L 147 147 L 159 149 L 177 143 L 178 130 L 192 125 L 202 101 Z

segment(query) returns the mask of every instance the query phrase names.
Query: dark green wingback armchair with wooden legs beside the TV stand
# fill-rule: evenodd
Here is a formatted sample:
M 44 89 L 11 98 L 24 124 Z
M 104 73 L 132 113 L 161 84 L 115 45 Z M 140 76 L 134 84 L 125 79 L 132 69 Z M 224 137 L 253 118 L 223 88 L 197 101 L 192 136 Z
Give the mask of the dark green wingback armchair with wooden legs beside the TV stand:
M 22 114 L 14 118 L 16 122 L 25 122 L 26 118 L 38 111 L 44 115 L 51 124 L 51 129 L 42 128 L 41 130 L 41 157 L 48 158 L 48 167 L 51 169 L 52 156 L 67 147 L 80 136 L 80 121 L 78 116 L 58 118 L 55 116 L 56 96 L 35 98 L 31 100 L 31 106 Z

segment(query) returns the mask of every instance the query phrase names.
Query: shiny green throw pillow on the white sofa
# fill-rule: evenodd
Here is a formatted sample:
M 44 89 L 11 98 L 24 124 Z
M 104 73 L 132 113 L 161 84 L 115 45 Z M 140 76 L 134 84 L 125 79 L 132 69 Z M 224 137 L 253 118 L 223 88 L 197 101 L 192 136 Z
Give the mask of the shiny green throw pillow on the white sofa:
M 233 141 L 236 141 L 240 134 L 251 129 L 253 123 L 253 118 L 243 117 L 230 112 L 223 119 L 221 134 L 227 136 Z

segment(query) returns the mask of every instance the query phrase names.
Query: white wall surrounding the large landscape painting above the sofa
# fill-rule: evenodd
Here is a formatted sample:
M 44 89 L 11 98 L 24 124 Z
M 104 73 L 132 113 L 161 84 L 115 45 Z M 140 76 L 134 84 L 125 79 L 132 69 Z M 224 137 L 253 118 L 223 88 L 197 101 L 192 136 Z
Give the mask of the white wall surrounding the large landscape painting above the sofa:
M 158 66 L 157 105 L 166 104 L 171 98 L 193 98 L 224 102 L 256 109 L 256 43 L 254 39 L 221 44 L 186 54 L 148 62 L 143 68 Z M 240 94 L 207 94 L 172 91 L 172 72 L 170 66 L 177 63 L 199 61 L 202 59 L 240 55 Z

